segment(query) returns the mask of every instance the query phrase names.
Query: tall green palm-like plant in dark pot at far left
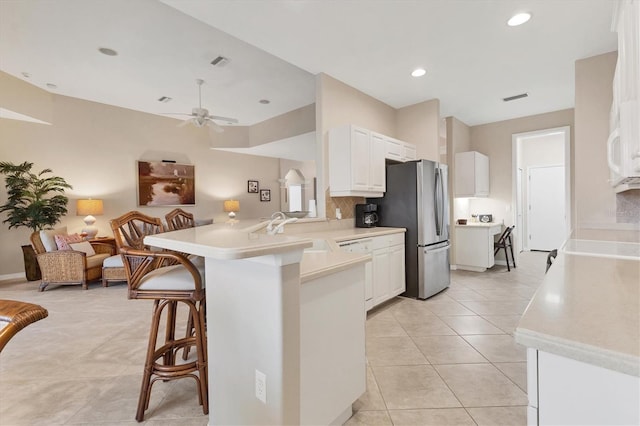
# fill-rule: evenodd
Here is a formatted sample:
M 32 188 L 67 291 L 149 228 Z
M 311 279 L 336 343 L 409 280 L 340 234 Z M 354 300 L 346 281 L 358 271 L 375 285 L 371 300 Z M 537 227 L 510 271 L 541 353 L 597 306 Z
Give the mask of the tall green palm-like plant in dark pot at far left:
M 9 229 L 21 226 L 32 232 L 50 229 L 67 214 L 69 199 L 64 190 L 73 187 L 59 176 L 46 176 L 53 173 L 51 169 L 36 174 L 32 168 L 33 163 L 26 161 L 17 165 L 0 162 L 0 174 L 5 175 L 8 195 L 7 202 L 0 206 L 0 213 L 7 212 L 2 222 L 8 223 Z M 22 252 L 27 279 L 39 280 L 40 269 L 33 247 L 24 245 Z

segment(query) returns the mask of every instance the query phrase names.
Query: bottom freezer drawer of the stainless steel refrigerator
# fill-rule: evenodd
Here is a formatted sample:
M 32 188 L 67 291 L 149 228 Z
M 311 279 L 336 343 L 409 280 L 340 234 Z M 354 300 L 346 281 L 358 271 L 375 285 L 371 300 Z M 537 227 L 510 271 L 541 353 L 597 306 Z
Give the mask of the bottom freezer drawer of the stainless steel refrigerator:
M 449 287 L 449 243 L 418 247 L 420 260 L 418 298 L 426 299 Z

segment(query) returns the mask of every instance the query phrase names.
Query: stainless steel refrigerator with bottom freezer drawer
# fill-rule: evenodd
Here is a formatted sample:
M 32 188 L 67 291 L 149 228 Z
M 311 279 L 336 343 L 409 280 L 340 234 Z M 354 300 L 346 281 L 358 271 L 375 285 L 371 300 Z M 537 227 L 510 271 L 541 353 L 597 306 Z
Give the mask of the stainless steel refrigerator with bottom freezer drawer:
M 450 283 L 447 166 L 430 160 L 389 164 L 378 225 L 406 228 L 403 296 L 426 299 Z

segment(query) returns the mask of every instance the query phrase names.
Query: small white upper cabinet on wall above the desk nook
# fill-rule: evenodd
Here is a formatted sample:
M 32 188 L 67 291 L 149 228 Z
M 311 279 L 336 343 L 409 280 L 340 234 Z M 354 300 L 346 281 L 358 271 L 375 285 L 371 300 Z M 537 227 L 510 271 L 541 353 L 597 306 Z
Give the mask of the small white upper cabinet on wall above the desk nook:
M 489 157 L 476 151 L 459 152 L 455 159 L 455 196 L 489 196 Z

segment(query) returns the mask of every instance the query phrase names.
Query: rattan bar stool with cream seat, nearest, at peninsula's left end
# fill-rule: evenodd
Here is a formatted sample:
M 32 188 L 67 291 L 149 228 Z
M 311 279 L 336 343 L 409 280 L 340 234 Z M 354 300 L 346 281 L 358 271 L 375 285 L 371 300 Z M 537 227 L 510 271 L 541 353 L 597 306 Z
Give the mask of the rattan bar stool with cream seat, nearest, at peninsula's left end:
M 198 268 L 180 253 L 152 251 L 144 237 L 162 232 L 159 218 L 140 212 L 129 212 L 111 221 L 116 245 L 122 255 L 127 275 L 129 299 L 153 300 L 151 332 L 145 360 L 136 420 L 144 420 L 149 408 L 151 388 L 157 380 L 193 378 L 204 414 L 209 413 L 207 384 L 207 345 L 204 329 L 204 267 Z M 176 338 L 176 312 L 179 303 L 188 307 L 195 332 Z M 158 346 L 158 333 L 166 311 L 164 342 Z M 177 362 L 176 354 L 190 346 L 196 348 L 196 359 Z M 197 374 L 196 374 L 197 373 Z

